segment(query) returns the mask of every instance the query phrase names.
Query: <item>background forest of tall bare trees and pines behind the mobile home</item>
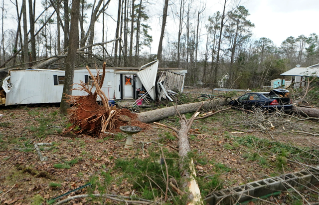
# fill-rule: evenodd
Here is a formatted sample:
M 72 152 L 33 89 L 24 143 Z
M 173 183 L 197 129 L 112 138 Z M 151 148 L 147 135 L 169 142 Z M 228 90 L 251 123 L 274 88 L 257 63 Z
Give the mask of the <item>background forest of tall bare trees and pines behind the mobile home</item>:
M 253 19 L 249 10 L 234 0 L 223 0 L 223 9 L 208 15 L 204 2 L 163 0 L 158 53 L 151 53 L 153 36 L 149 25 L 152 0 L 79 0 L 79 32 L 76 66 L 139 67 L 155 59 L 160 67 L 188 70 L 185 85 L 219 87 L 227 76 L 227 88 L 258 88 L 296 67 L 318 63 L 319 38 L 289 36 L 280 46 L 269 38 L 252 39 Z M 110 2 L 117 3 L 117 16 L 108 14 Z M 2 0 L 0 66 L 32 67 L 45 59 L 59 58 L 42 67 L 64 68 L 68 50 L 71 0 Z M 14 8 L 14 9 L 12 9 Z M 6 28 L 8 11 L 16 28 Z M 15 11 L 15 15 L 12 11 Z M 173 18 L 175 32 L 165 30 L 166 17 Z M 208 16 L 208 17 L 207 17 Z M 133 19 L 133 20 L 132 20 Z M 106 22 L 108 21 L 108 22 Z M 112 21 L 112 22 L 110 22 Z M 102 23 L 98 33 L 97 23 Z M 114 24 L 112 27 L 111 24 Z M 274 31 L 279 32 L 279 31 Z M 112 33 L 115 40 L 110 40 Z M 95 46 L 93 46 L 95 45 Z M 26 48 L 26 49 L 24 49 Z

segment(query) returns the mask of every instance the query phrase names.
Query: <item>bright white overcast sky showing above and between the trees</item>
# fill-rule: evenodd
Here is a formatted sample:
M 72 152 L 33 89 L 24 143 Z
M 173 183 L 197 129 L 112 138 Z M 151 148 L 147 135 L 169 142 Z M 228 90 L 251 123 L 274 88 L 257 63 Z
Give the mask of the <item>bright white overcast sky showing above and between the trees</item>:
M 93 0 L 87 0 L 93 2 Z M 170 0 L 169 9 L 173 8 L 172 2 L 178 2 L 177 0 Z M 217 10 L 222 12 L 224 0 L 207 0 L 206 9 L 204 11 L 205 19 L 209 15 L 213 15 Z M 229 0 L 234 1 L 234 0 Z M 41 0 L 37 2 L 37 13 L 41 12 L 43 8 L 40 5 Z M 118 0 L 111 0 L 110 6 L 107 10 L 109 14 L 116 19 L 117 17 L 117 2 Z M 146 0 L 144 0 L 146 2 Z M 160 16 L 162 14 L 164 0 L 152 0 L 153 4 L 148 4 L 148 14 L 151 16 L 148 24 L 151 25 L 152 31 L 150 32 L 153 36 L 152 53 L 157 53 L 159 38 L 160 38 Z M 202 2 L 202 3 L 200 3 Z M 204 3 L 203 3 L 204 2 Z M 12 16 L 16 16 L 15 8 L 9 0 L 4 0 L 7 7 L 7 14 L 4 24 L 4 30 L 11 28 L 16 29 L 16 21 L 12 20 Z M 21 0 L 18 0 L 21 5 Z M 194 0 L 192 7 L 200 7 L 199 5 L 205 4 L 205 0 Z M 248 19 L 255 24 L 255 28 L 252 29 L 253 39 L 259 39 L 261 37 L 270 38 L 276 46 L 280 46 L 282 41 L 287 37 L 293 36 L 297 38 L 299 35 L 304 34 L 309 36 L 311 33 L 319 34 L 318 23 L 318 11 L 319 11 L 319 0 L 241 0 L 241 5 L 244 5 L 251 14 Z M 28 7 L 28 6 L 27 6 Z M 228 5 L 226 10 L 231 9 L 232 5 Z M 28 8 L 27 8 L 28 9 Z M 90 15 L 90 11 L 87 11 Z M 102 15 L 101 15 L 102 16 Z M 108 40 L 114 38 L 115 33 L 115 22 L 111 17 L 107 17 L 108 27 Z M 177 19 L 173 21 L 173 15 L 167 19 L 167 27 L 165 38 L 170 41 L 177 40 Z M 101 37 L 102 31 L 102 18 L 100 17 L 99 22 L 96 23 L 96 41 Z M 202 33 L 205 33 L 205 28 L 202 27 Z M 111 45 L 110 45 L 111 46 Z

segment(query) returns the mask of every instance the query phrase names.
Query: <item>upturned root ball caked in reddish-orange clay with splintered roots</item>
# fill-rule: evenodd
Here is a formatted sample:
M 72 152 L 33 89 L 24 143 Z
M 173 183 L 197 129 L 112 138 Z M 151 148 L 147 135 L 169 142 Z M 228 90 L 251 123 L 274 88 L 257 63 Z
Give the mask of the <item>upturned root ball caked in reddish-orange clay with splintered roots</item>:
M 106 63 L 104 62 L 103 72 L 100 78 L 96 77 L 100 76 L 98 70 L 97 75 L 94 76 L 89 67 L 86 66 L 93 83 L 89 85 L 81 81 L 80 84 L 78 84 L 79 87 L 75 89 L 85 91 L 88 95 L 68 96 L 68 102 L 73 104 L 69 110 L 70 122 L 72 122 L 73 125 L 69 128 L 69 131 L 73 131 L 77 134 L 83 133 L 97 136 L 104 132 L 116 130 L 126 124 L 143 126 L 142 123 L 136 120 L 136 115 L 129 110 L 109 106 L 108 98 L 101 90 L 105 78 L 105 67 Z M 94 87 L 95 91 L 92 93 Z M 101 99 L 103 106 L 97 103 L 98 97 Z

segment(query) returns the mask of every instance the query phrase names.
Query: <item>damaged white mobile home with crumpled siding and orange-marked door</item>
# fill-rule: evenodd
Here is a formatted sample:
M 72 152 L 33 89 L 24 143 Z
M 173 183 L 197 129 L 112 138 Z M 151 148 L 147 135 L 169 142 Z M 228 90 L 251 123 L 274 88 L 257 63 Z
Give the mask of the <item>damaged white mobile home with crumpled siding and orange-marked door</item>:
M 170 91 L 183 91 L 187 70 L 181 68 L 158 68 L 158 60 L 141 68 L 107 68 L 102 91 L 109 99 L 138 99 L 143 94 L 156 100 L 168 96 Z M 102 70 L 99 70 L 100 74 Z M 92 69 L 93 75 L 97 70 Z M 61 102 L 64 73 L 62 70 L 26 69 L 10 70 L 3 79 L 0 105 L 40 104 Z M 161 76 L 157 83 L 157 76 Z M 163 77 L 164 76 L 164 77 Z M 74 71 L 73 89 L 83 81 L 93 84 L 85 68 Z M 156 92 L 156 89 L 159 89 Z M 95 87 L 92 89 L 95 91 Z M 166 94 L 165 94 L 166 93 Z M 87 95 L 84 91 L 73 90 L 72 95 Z

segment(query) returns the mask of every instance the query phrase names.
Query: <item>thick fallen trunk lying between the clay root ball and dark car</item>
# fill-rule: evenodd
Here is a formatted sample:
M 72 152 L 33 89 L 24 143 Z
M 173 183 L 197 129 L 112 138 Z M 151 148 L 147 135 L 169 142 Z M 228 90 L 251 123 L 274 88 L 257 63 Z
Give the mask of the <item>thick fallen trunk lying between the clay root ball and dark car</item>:
M 203 103 L 202 108 L 208 109 L 215 106 L 224 106 L 227 105 L 230 99 L 222 98 L 216 100 L 208 100 L 203 102 L 189 103 L 184 105 L 177 105 L 177 110 L 180 114 L 185 114 L 189 112 L 195 112 L 199 106 Z M 176 115 L 176 110 L 173 106 L 161 108 L 157 110 L 147 111 L 138 113 L 138 120 L 144 123 L 151 123 L 154 121 L 158 121 L 170 116 Z

